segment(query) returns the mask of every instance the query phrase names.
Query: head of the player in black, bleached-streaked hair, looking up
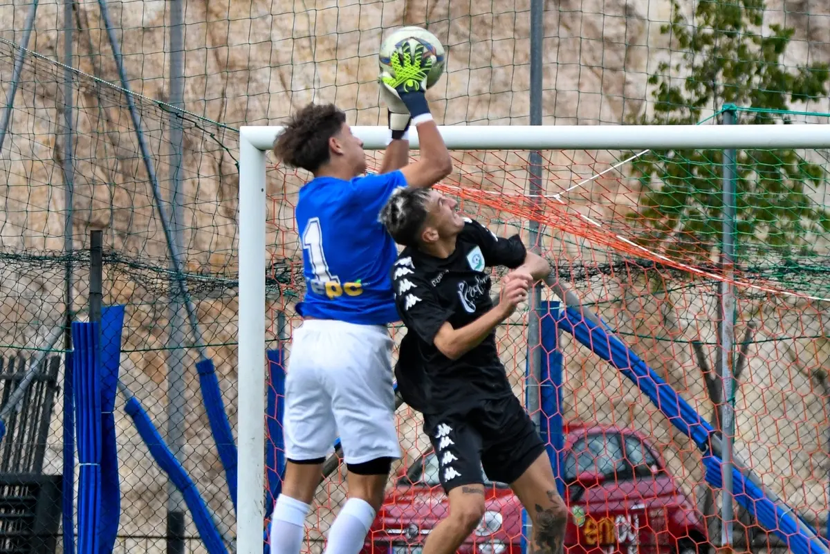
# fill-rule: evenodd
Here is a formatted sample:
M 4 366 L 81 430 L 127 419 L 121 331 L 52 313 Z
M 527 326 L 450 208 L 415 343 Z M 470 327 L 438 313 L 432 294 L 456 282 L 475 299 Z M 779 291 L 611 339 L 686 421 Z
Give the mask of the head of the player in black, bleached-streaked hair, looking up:
M 464 228 L 458 202 L 434 189 L 398 188 L 380 211 L 380 221 L 399 245 L 426 247 L 455 239 Z

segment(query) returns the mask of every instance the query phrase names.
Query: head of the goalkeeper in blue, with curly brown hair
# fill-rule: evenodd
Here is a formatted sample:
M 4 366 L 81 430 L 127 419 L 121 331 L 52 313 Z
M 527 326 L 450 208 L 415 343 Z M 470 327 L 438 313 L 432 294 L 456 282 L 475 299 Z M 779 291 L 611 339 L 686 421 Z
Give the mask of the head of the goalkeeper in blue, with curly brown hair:
M 366 171 L 363 141 L 334 104 L 308 104 L 292 115 L 274 141 L 274 154 L 290 168 L 315 176 L 350 179 Z

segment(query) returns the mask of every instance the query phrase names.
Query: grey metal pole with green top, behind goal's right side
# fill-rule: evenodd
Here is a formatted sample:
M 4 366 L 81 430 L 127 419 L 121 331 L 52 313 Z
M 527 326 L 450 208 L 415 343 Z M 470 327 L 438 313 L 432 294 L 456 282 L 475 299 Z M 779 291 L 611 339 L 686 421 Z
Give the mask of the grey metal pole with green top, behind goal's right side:
M 735 106 L 725 106 L 723 113 L 725 125 L 736 123 Z M 723 465 L 721 466 L 720 519 L 721 544 L 725 552 L 732 552 L 732 520 L 734 506 L 732 498 L 732 444 L 734 441 L 735 409 L 732 404 L 733 373 L 735 350 L 735 291 L 731 279 L 735 264 L 735 179 L 737 178 L 737 154 L 735 148 L 724 150 L 723 177 L 723 236 L 721 261 L 725 279 L 721 281 L 720 294 L 720 377 L 723 380 L 723 397 L 721 403 L 721 426 L 723 431 Z

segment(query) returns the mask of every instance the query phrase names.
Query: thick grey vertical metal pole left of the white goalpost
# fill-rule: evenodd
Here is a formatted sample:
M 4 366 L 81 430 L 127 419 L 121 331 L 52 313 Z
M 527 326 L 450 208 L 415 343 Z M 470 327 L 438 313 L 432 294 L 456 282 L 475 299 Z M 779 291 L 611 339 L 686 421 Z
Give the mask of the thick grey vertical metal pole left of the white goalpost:
M 170 0 L 170 82 L 169 104 L 175 108 L 184 108 L 184 0 Z M 175 111 L 170 117 L 170 225 L 173 244 L 176 251 L 183 250 L 182 221 L 182 118 Z M 178 269 L 171 262 L 170 269 L 176 275 Z M 170 451 L 183 463 L 184 448 L 184 326 L 182 292 L 175 279 L 170 284 L 172 298 L 170 301 L 170 330 L 168 333 L 168 386 L 167 386 L 167 433 Z M 184 554 L 184 499 L 178 488 L 168 480 L 167 500 L 167 554 Z

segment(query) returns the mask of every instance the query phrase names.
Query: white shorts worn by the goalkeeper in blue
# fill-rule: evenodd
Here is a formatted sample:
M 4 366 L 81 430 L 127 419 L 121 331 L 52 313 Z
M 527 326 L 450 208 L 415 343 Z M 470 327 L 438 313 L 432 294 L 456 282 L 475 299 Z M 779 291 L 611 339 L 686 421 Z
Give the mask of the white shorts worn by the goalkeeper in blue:
M 286 458 L 325 458 L 338 434 L 347 464 L 400 458 L 392 338 L 383 326 L 308 319 L 286 367 Z

